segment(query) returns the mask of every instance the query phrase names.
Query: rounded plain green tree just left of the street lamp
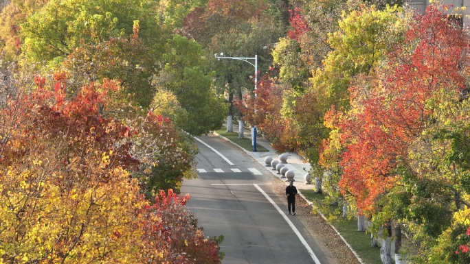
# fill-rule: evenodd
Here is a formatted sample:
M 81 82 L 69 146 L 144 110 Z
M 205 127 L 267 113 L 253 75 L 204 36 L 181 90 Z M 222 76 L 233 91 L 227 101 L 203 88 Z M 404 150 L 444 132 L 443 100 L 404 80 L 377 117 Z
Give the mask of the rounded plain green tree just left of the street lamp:
M 164 60 L 164 71 L 157 82 L 177 97 L 185 111 L 175 115 L 179 128 L 193 135 L 220 128 L 227 108 L 211 88 L 213 73 L 208 70 L 209 61 L 201 45 L 175 35 Z

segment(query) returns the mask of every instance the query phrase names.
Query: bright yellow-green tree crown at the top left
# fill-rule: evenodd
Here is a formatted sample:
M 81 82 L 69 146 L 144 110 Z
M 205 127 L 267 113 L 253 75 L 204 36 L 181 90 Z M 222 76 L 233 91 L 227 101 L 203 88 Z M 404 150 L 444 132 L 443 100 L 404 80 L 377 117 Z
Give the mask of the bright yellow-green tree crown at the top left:
M 97 44 L 130 36 L 135 20 L 141 21 L 144 38 L 159 35 L 148 6 L 139 0 L 49 1 L 21 25 L 23 53 L 34 61 L 60 60 L 82 41 Z

